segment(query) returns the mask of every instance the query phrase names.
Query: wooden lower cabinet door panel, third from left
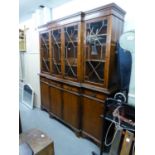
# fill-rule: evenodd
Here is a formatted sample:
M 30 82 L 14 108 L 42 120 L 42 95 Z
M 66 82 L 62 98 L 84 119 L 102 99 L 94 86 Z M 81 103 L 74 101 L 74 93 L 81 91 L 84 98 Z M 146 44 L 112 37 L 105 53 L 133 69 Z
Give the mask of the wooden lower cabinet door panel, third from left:
M 64 107 L 63 107 L 63 119 L 67 124 L 72 127 L 79 128 L 79 97 L 64 92 L 63 93 Z

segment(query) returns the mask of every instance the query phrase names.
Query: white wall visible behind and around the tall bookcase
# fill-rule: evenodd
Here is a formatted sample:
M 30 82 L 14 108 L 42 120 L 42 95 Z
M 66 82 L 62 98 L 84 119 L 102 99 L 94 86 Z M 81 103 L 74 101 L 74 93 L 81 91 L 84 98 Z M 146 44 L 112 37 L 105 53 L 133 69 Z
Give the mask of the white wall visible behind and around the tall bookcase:
M 79 11 L 90 10 L 99 6 L 103 6 L 109 3 L 115 2 L 127 13 L 125 16 L 124 31 L 135 29 L 135 8 L 134 1 L 124 1 L 124 0 L 72 0 L 64 5 L 56 8 L 52 8 L 52 19 L 58 19 L 66 15 L 70 15 Z M 31 20 L 26 22 L 27 27 L 27 52 L 24 54 L 24 66 L 25 66 L 25 82 L 28 82 L 34 88 L 36 93 L 35 104 L 40 106 L 40 90 L 39 90 L 39 45 L 38 45 L 38 32 L 35 30 L 34 25 L 36 19 L 31 18 Z M 22 23 L 24 25 L 24 23 Z M 134 73 L 132 73 L 132 92 L 129 96 L 129 101 L 134 104 Z M 131 90 L 131 89 L 130 89 Z

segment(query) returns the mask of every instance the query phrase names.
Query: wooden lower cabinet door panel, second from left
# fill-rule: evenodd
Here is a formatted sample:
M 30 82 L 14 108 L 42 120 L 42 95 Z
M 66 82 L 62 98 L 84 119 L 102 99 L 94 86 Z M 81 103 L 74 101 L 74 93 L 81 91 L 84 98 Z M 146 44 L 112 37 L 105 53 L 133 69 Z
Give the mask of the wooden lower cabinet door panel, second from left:
M 61 90 L 54 88 L 54 87 L 50 87 L 50 95 L 51 95 L 50 111 L 54 115 L 61 118 L 62 117 Z

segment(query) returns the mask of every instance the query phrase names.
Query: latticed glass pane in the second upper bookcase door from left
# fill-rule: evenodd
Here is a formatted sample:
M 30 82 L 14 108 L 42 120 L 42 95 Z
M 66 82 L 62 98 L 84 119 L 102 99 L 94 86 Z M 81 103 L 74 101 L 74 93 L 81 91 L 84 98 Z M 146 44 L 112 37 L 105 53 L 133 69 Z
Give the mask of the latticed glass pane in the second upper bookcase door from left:
M 52 73 L 61 74 L 61 30 L 53 30 L 52 38 Z

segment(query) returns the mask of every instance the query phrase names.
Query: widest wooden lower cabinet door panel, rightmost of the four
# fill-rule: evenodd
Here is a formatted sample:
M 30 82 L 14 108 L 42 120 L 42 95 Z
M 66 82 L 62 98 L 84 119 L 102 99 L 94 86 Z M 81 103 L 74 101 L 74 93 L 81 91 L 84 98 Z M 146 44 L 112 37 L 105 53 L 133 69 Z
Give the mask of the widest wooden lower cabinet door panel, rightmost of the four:
M 103 103 L 83 97 L 82 109 L 82 131 L 100 141 L 103 121 L 100 115 L 103 114 Z

